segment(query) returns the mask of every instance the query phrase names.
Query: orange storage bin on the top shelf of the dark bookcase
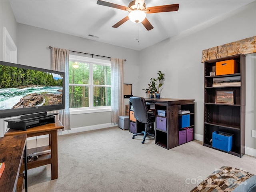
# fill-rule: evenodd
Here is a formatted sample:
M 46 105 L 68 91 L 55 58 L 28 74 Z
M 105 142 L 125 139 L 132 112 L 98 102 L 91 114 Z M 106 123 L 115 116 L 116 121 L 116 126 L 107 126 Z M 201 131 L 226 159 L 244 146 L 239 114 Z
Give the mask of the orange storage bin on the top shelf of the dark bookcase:
M 226 60 L 216 62 L 216 75 L 228 75 L 237 72 L 237 63 L 235 60 Z

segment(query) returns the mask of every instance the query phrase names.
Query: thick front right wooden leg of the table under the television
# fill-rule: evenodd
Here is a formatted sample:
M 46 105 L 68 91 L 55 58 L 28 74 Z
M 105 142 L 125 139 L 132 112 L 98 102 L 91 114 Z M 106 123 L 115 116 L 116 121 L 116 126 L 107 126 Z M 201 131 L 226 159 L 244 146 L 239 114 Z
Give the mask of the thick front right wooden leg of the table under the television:
M 58 178 L 58 138 L 57 130 L 51 132 L 52 180 Z

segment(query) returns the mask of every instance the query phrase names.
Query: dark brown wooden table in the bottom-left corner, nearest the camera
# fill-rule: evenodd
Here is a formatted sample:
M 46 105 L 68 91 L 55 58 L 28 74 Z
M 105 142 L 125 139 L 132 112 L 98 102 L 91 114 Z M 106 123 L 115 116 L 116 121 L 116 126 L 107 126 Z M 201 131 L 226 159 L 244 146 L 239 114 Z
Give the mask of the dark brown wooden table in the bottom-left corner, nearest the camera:
M 25 190 L 28 191 L 26 161 L 22 165 L 23 157 L 26 156 L 26 139 L 26 134 L 0 138 L 0 162 L 5 164 L 0 178 L 0 191 L 22 192 L 24 179 Z M 21 171 L 22 166 L 24 172 Z

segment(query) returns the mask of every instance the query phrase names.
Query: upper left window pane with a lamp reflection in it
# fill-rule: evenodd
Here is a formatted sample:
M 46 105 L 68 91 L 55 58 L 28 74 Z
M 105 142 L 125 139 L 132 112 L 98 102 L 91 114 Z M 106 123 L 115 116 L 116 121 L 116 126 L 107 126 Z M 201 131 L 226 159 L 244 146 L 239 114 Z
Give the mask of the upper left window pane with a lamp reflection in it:
M 74 68 L 74 64 L 78 68 Z M 88 63 L 69 62 L 69 83 L 70 84 L 89 84 L 89 65 Z

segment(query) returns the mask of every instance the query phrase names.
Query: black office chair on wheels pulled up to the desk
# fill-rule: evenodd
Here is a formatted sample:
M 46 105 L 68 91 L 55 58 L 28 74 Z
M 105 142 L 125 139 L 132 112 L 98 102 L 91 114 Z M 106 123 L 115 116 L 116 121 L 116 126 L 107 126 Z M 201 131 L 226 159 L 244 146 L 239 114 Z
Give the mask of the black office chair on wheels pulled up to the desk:
M 134 118 L 139 122 L 145 123 L 145 131 L 134 134 L 132 138 L 134 139 L 137 135 L 144 135 L 142 140 L 142 143 L 144 143 L 146 136 L 155 137 L 154 127 L 152 126 L 155 121 L 154 110 L 148 110 L 143 97 L 130 97 L 130 102 L 133 106 Z

